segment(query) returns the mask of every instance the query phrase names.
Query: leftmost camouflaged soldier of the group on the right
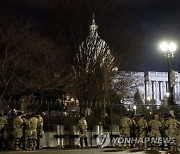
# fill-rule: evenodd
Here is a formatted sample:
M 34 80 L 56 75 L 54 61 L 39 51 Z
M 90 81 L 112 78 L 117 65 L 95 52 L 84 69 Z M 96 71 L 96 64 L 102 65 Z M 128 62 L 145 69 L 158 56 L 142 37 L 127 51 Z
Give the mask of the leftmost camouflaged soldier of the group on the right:
M 132 125 L 132 121 L 128 118 L 128 115 L 125 114 L 124 117 L 120 120 L 120 132 L 122 137 L 129 138 L 130 137 L 130 127 Z M 124 141 L 127 141 L 126 139 Z M 123 147 L 129 147 L 128 143 L 124 143 Z

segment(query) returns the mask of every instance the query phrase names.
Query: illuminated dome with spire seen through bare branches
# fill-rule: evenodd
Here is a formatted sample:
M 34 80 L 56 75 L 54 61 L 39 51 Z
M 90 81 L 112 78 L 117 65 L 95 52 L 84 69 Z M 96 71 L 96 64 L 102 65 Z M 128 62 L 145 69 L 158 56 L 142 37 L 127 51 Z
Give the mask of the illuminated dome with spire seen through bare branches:
M 86 57 L 86 71 L 88 72 L 89 65 L 96 62 L 102 66 L 104 63 L 111 65 L 114 61 L 114 57 L 110 53 L 109 46 L 102 40 L 97 32 L 98 26 L 95 22 L 93 14 L 92 23 L 89 26 L 89 35 L 85 41 L 79 46 L 79 52 L 77 54 L 78 61 L 84 60 Z

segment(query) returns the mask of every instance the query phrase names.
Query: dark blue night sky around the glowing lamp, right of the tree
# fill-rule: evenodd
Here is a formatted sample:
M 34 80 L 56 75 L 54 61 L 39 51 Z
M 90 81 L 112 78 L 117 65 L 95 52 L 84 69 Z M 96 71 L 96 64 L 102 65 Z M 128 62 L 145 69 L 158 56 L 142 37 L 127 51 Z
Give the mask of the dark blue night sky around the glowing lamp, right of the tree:
M 173 69 L 180 72 L 180 0 L 121 0 L 141 20 L 145 29 L 144 61 L 139 71 L 167 71 L 158 48 L 162 40 L 173 40 L 176 51 Z

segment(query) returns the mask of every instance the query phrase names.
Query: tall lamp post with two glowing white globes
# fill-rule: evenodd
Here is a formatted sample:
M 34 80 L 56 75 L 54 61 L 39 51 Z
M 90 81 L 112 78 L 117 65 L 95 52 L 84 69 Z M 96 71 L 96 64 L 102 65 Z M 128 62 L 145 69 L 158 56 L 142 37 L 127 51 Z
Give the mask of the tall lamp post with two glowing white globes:
M 174 53 L 177 49 L 176 44 L 173 42 L 162 42 L 160 44 L 160 49 L 164 53 L 165 62 L 167 64 L 168 69 L 168 105 L 174 105 L 174 97 L 173 97 L 173 91 L 174 91 L 174 85 L 171 84 L 171 67 L 174 60 Z

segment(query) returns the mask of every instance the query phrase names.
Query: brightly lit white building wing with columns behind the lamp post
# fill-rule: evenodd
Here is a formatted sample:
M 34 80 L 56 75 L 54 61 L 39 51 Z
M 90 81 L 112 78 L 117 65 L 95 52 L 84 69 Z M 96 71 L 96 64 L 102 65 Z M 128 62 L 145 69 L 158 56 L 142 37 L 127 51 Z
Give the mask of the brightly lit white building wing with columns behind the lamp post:
M 136 72 L 141 77 L 141 86 L 137 87 L 141 99 L 146 104 L 150 101 L 157 105 L 167 103 L 168 73 L 167 72 Z M 174 100 L 180 104 L 180 73 L 174 86 Z

